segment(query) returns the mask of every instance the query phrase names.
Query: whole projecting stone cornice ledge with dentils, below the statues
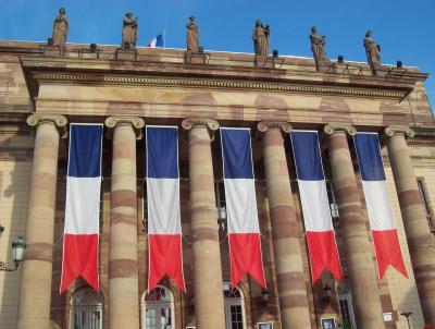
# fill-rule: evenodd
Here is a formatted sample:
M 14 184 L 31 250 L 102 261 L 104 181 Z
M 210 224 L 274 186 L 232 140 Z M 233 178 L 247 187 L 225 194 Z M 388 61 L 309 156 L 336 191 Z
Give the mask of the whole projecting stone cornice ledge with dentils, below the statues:
M 402 100 L 425 74 L 346 75 L 229 65 L 21 57 L 32 97 L 40 84 L 154 86 Z

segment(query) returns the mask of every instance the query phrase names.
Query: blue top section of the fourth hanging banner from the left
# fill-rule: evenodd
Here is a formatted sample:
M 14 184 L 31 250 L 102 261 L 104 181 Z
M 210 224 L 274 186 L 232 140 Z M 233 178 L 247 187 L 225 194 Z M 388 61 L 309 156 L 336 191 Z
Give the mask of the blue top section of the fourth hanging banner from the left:
M 324 180 L 318 133 L 293 131 L 290 134 L 298 180 Z

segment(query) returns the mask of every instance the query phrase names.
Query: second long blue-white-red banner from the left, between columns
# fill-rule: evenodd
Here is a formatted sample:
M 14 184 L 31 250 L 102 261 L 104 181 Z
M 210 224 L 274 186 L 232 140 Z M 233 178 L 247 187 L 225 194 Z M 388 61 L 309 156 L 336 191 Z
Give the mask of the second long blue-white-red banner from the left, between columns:
M 178 129 L 146 127 L 149 278 L 151 291 L 164 276 L 186 291 L 179 215 Z

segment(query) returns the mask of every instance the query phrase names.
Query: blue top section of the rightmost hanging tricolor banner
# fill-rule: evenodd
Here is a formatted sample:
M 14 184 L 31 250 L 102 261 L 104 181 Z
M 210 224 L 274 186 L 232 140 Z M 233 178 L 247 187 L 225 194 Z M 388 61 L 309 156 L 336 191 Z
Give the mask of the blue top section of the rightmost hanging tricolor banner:
M 353 136 L 363 181 L 385 181 L 380 138 L 377 134 L 358 133 Z

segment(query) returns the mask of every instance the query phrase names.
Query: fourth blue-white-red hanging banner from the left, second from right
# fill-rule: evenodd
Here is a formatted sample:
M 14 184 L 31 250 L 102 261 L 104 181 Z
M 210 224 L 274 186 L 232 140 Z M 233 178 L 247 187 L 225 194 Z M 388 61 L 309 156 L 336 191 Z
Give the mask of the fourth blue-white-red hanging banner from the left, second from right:
M 328 269 L 337 280 L 341 280 L 343 273 L 327 200 L 318 132 L 293 131 L 290 137 L 307 231 L 312 281 L 315 283 L 324 269 Z

